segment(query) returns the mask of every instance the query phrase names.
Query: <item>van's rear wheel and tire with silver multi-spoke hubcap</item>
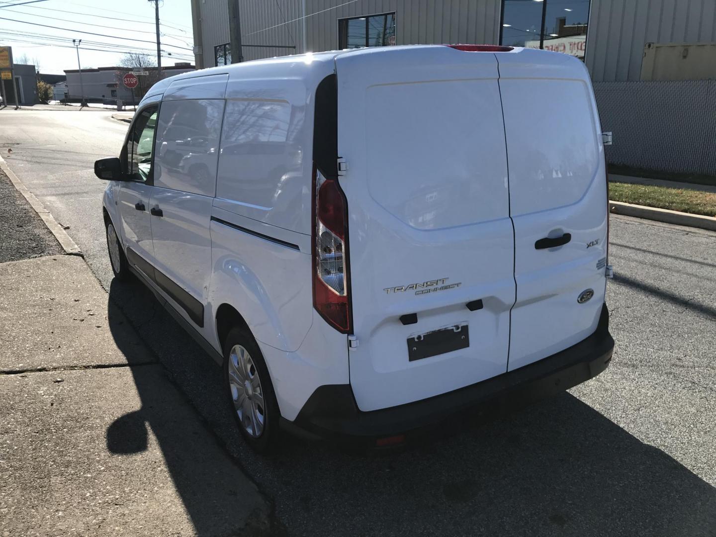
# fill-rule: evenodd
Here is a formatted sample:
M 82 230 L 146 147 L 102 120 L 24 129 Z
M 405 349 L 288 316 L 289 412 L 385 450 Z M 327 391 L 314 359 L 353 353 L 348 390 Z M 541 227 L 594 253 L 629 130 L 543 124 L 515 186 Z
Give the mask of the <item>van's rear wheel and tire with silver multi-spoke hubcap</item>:
M 238 430 L 256 453 L 273 453 L 279 443 L 281 414 L 256 339 L 245 329 L 231 329 L 223 356 L 227 401 Z

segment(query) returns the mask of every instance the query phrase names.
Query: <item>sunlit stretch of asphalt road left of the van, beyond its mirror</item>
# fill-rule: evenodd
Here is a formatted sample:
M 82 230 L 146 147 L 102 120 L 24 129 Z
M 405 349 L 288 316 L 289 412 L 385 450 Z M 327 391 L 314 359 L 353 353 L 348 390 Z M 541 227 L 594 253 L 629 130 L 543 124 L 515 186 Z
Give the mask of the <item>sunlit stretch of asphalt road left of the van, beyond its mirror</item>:
M 0 155 L 82 249 L 109 289 L 112 269 L 102 221 L 102 192 L 95 160 L 118 156 L 127 123 L 97 110 L 0 111 Z M 12 153 L 8 155 L 8 149 Z

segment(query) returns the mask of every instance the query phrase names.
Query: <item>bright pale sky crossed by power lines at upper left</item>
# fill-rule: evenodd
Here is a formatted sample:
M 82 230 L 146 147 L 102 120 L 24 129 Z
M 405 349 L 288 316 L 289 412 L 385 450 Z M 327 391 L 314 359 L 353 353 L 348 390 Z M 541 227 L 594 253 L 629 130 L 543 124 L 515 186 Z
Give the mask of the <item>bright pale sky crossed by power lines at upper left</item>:
M 159 6 L 162 65 L 193 64 L 190 0 L 163 0 Z M 0 0 L 0 46 L 12 47 L 16 63 L 26 54 L 42 73 L 77 69 L 72 39 L 82 39 L 82 69 L 115 66 L 127 52 L 147 52 L 156 59 L 154 2 Z

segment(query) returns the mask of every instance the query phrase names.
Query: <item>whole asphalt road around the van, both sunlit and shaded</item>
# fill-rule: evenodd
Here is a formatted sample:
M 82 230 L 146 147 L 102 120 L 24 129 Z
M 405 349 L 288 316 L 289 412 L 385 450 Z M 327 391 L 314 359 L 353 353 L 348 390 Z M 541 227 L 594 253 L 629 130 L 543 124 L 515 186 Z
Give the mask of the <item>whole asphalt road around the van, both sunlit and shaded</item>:
M 14 113 L 0 112 L 0 151 L 19 144 L 11 168 L 71 226 L 110 298 L 289 535 L 716 535 L 716 233 L 612 216 L 616 351 L 569 393 L 405 453 L 357 457 L 287 439 L 259 458 L 232 428 L 218 367 L 148 291 L 108 279 L 90 161 L 117 153 L 125 124 Z

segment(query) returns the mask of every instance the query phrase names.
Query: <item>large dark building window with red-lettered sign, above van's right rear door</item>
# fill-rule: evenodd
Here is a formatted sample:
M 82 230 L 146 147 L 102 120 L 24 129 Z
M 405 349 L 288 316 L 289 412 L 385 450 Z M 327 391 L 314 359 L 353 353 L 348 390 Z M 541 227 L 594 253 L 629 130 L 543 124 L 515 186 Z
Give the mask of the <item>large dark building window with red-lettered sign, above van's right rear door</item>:
M 563 52 L 584 61 L 588 21 L 589 0 L 503 0 L 500 44 Z

